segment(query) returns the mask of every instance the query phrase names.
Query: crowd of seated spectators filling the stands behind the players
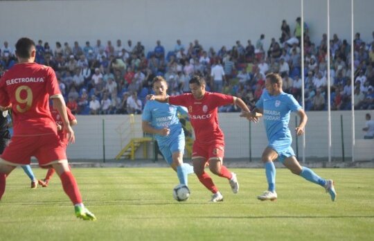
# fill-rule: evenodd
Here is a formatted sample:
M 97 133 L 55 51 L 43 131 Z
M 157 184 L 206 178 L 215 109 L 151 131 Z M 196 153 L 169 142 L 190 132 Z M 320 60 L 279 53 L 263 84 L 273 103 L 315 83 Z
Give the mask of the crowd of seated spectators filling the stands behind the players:
M 189 91 L 192 75 L 203 75 L 208 91 L 235 95 L 250 107 L 265 87 L 265 75 L 280 73 L 283 90 L 301 102 L 301 20 L 291 33 L 285 20 L 281 36 L 273 37 L 265 46 L 265 35 L 244 46 L 238 40 L 233 46 L 204 48 L 199 40 L 185 46 L 177 39 L 175 48 L 166 51 L 160 40 L 152 51 L 145 51 L 141 42 L 132 44 L 121 39 L 112 44 L 94 46 L 85 42 L 73 46 L 65 42 L 39 40 L 36 59 L 51 66 L 57 75 L 66 105 L 75 114 L 141 114 L 145 96 L 152 93 L 152 79 L 162 75 L 168 82 L 170 95 Z M 327 101 L 332 109 L 351 108 L 351 88 L 354 88 L 355 109 L 374 109 L 374 32 L 373 39 L 364 42 L 355 34 L 353 46 L 346 39 L 333 35 L 328 41 L 323 34 L 318 43 L 311 42 L 308 25 L 304 24 L 305 109 L 324 110 Z M 327 100 L 327 46 L 330 44 L 330 100 Z M 355 86 L 350 81 L 350 49 L 354 48 Z M 0 48 L 0 74 L 17 62 L 13 48 L 3 42 Z M 219 111 L 239 111 L 234 105 Z

